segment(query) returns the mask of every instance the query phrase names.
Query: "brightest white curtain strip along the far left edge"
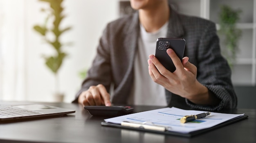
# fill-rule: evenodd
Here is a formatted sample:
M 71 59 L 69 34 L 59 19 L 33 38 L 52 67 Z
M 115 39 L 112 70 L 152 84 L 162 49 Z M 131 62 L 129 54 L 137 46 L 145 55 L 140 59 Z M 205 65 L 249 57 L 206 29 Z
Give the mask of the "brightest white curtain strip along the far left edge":
M 0 100 L 26 100 L 25 0 L 0 0 Z

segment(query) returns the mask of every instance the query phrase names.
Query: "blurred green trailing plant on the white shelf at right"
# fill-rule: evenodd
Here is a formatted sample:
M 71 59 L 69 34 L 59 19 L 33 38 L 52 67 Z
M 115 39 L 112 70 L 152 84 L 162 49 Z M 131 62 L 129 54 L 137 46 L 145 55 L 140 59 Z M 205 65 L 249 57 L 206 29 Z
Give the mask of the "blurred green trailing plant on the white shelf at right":
M 220 36 L 223 37 L 225 48 L 222 53 L 227 58 L 230 67 L 236 61 L 236 54 L 239 51 L 238 39 L 241 37 L 241 30 L 236 27 L 242 12 L 240 9 L 234 10 L 230 6 L 222 5 L 220 7 Z

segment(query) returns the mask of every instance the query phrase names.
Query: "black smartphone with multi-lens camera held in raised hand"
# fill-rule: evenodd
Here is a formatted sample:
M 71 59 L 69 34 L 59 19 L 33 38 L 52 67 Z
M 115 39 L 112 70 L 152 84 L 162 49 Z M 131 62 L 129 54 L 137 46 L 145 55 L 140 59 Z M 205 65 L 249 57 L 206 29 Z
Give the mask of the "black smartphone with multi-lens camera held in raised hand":
M 183 38 L 158 38 L 157 45 L 155 49 L 155 57 L 159 60 L 162 65 L 168 69 L 170 72 L 176 70 L 173 61 L 170 56 L 166 53 L 168 48 L 172 48 L 177 56 L 182 61 L 186 41 Z

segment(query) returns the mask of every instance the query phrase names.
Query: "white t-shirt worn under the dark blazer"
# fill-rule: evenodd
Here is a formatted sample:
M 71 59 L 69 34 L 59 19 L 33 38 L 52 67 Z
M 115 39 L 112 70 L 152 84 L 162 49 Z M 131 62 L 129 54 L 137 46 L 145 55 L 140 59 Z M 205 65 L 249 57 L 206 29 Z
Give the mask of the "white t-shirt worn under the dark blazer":
M 167 106 L 165 89 L 155 83 L 148 74 L 148 56 L 155 55 L 156 41 L 160 37 L 166 37 L 168 22 L 157 32 L 146 32 L 140 25 L 138 39 L 138 52 L 135 56 L 134 83 L 128 104 Z

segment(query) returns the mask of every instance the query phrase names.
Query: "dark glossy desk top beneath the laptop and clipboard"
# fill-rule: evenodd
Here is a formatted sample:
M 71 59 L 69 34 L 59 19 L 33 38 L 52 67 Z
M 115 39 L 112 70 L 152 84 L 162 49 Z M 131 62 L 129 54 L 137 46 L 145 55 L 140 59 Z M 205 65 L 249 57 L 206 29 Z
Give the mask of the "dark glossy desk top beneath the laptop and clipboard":
M 249 118 L 186 138 L 101 126 L 101 121 L 108 117 L 91 116 L 78 104 L 43 104 L 74 109 L 76 113 L 64 117 L 0 123 L 0 143 L 256 143 L 255 109 L 223 111 L 245 113 Z M 157 108 L 163 107 L 135 106 L 135 112 Z

